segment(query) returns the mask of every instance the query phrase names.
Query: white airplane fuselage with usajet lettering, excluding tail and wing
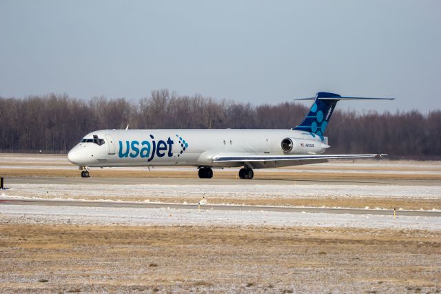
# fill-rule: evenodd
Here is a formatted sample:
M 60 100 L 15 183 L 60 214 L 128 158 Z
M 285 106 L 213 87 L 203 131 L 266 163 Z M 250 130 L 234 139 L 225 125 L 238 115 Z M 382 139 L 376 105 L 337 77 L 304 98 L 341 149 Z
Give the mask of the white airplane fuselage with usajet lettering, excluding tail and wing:
M 281 144 L 289 138 L 290 150 Z M 323 139 L 323 140 L 322 140 Z M 327 137 L 301 130 L 97 130 L 68 154 L 78 166 L 241 166 L 214 163 L 215 155 L 318 155 Z M 286 149 L 286 148 L 285 148 Z M 293 165 L 260 165 L 256 168 Z

